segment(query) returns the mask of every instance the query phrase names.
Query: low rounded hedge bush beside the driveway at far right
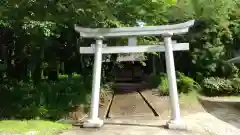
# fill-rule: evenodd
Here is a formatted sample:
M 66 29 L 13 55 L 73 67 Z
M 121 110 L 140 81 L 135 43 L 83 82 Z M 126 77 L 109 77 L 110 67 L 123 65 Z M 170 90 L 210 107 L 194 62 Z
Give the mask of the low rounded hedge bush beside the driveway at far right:
M 219 77 L 205 78 L 202 82 L 202 93 L 207 96 L 227 96 L 237 94 L 239 79 L 224 79 Z

